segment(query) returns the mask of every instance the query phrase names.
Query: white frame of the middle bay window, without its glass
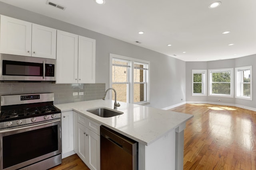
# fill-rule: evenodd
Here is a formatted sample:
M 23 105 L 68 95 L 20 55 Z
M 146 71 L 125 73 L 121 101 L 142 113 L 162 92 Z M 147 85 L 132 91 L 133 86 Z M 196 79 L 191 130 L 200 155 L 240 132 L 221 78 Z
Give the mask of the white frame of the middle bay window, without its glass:
M 227 72 L 230 71 L 230 94 L 212 94 L 212 73 L 216 72 Z M 220 69 L 209 69 L 208 70 L 208 96 L 234 98 L 234 68 L 220 68 Z

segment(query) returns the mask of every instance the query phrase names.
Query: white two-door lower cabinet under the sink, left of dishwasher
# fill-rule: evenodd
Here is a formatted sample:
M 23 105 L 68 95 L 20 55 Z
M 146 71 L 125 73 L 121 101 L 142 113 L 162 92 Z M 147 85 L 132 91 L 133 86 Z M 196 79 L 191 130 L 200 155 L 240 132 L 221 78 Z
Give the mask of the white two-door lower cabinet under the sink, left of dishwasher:
M 77 119 L 76 153 L 90 170 L 100 170 L 100 134 L 97 131 L 100 124 L 79 113 Z

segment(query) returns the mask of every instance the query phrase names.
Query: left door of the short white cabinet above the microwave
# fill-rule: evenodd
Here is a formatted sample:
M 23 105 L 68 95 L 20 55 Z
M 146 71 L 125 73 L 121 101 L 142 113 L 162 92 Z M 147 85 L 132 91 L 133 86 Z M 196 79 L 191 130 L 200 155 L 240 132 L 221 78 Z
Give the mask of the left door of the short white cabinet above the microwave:
M 32 23 L 1 15 L 0 53 L 31 56 Z

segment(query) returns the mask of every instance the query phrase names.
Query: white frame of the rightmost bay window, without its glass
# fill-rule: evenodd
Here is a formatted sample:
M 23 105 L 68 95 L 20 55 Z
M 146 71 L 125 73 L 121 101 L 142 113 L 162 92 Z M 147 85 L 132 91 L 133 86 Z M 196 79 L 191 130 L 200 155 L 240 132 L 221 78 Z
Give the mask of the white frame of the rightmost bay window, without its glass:
M 247 96 L 241 96 L 243 90 L 242 90 L 242 82 L 243 75 L 241 70 L 250 70 L 250 97 Z M 240 72 L 240 73 L 239 73 Z M 248 83 L 246 83 L 248 84 Z M 240 95 L 239 95 L 240 94 Z M 235 98 L 244 99 L 244 100 L 252 100 L 252 66 L 243 66 L 243 67 L 236 67 L 235 68 Z

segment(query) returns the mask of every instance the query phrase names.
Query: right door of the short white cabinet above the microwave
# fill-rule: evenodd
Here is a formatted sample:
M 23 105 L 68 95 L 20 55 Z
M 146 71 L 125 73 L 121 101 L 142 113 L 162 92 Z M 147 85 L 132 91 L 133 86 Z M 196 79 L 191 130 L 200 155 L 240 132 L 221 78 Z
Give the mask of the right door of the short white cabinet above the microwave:
M 56 29 L 32 23 L 32 57 L 56 59 Z

